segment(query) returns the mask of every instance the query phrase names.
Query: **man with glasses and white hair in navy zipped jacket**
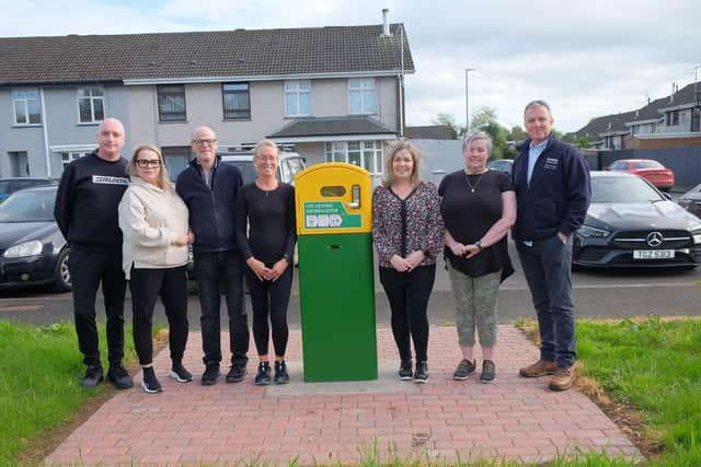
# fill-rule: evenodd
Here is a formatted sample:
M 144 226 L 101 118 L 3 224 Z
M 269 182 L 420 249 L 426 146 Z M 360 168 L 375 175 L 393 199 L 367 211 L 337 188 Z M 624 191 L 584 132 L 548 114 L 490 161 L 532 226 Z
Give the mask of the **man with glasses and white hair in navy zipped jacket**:
M 237 196 L 243 184 L 241 172 L 217 161 L 217 136 L 208 127 L 193 131 L 197 154 L 180 173 L 175 189 L 189 210 L 195 235 L 193 256 L 202 308 L 202 343 L 205 352 L 203 385 L 219 377 L 221 362 L 220 284 L 227 293 L 231 369 L 227 383 L 243 380 L 249 361 L 249 324 L 243 305 L 243 258 L 235 238 Z

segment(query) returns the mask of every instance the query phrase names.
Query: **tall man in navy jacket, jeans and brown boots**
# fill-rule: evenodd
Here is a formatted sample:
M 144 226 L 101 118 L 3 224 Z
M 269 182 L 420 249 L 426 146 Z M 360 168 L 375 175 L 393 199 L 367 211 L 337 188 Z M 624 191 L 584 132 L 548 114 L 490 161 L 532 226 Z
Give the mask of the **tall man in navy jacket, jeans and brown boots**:
M 517 219 L 513 236 L 538 314 L 540 359 L 525 377 L 553 375 L 548 387 L 574 382 L 576 359 L 572 301 L 572 237 L 584 223 L 591 195 L 584 157 L 552 135 L 550 106 L 533 101 L 524 112 L 529 136 L 514 161 Z

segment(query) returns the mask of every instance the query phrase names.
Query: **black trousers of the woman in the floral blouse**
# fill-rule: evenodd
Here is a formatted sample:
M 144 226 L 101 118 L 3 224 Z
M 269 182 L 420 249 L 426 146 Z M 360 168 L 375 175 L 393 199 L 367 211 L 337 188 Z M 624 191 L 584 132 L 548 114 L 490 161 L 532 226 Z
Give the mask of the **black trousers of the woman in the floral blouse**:
M 392 312 L 392 334 L 402 360 L 412 358 L 411 340 L 416 361 L 428 360 L 427 307 L 435 280 L 436 265 L 420 266 L 411 272 L 380 268 L 380 282 Z

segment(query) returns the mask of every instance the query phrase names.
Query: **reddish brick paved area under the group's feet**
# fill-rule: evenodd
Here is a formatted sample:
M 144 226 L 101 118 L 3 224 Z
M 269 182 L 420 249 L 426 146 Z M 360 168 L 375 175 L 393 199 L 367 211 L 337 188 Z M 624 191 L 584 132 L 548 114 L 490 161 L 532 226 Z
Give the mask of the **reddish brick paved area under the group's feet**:
M 380 383 L 301 383 L 300 335 L 291 331 L 294 383 L 278 387 L 253 385 L 255 359 L 244 382 L 226 384 L 222 375 L 219 384 L 202 386 L 200 336 L 193 334 L 185 358 L 196 377 L 193 383 L 168 377 L 169 352 L 162 351 L 154 364 L 164 393 L 148 395 L 138 386 L 117 394 L 46 464 L 352 463 L 376 452 L 375 445 L 387 460 L 429 456 L 447 463 L 537 462 L 577 452 L 640 458 L 584 395 L 551 393 L 547 377 L 517 376 L 518 367 L 538 358 L 538 350 L 515 327 L 499 326 L 497 381 L 491 385 L 474 376 L 452 381 L 460 360 L 455 328 L 432 327 L 430 332 L 430 380 L 418 386 L 395 380 L 398 358 L 389 329 L 378 329 Z M 135 378 L 139 381 L 140 374 Z

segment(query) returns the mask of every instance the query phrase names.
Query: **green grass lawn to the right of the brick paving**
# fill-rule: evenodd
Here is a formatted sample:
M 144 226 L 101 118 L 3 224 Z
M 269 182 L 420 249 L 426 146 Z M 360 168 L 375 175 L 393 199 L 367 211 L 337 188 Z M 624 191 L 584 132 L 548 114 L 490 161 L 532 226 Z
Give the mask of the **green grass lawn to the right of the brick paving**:
M 656 464 L 701 466 L 701 320 L 578 322 L 577 351 L 582 374 L 637 409 Z

